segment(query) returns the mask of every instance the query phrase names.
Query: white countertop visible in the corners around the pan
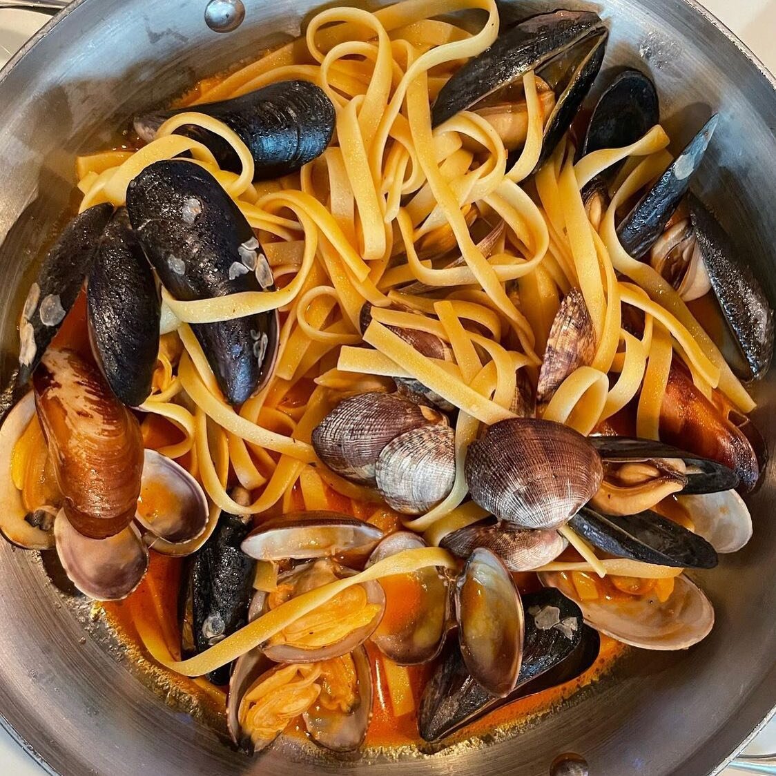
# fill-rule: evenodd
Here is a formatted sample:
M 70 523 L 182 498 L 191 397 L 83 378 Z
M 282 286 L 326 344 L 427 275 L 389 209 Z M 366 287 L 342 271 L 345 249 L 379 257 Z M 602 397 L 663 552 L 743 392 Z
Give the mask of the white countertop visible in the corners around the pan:
M 718 19 L 749 46 L 772 73 L 776 73 L 776 0 L 700 0 Z M 45 16 L 0 9 L 0 66 L 46 21 Z M 776 752 L 776 719 L 757 737 L 750 753 Z M 40 776 L 43 771 L 29 755 L 0 729 L 0 774 Z M 736 776 L 732 768 L 724 776 Z M 67 774 L 64 774 L 67 776 Z

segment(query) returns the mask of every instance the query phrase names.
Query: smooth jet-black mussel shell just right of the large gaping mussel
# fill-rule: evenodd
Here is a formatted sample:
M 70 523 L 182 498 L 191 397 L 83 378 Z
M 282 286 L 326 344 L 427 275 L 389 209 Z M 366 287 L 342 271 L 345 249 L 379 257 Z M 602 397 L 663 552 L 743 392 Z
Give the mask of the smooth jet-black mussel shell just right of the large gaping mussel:
M 659 123 L 660 103 L 652 79 L 638 70 L 622 71 L 593 109 L 580 156 L 629 146 Z

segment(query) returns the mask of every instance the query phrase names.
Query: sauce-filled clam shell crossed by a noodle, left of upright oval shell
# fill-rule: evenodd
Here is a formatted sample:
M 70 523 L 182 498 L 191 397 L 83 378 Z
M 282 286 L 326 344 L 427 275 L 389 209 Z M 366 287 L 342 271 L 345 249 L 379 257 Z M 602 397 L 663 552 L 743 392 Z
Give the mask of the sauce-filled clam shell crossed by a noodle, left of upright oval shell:
M 423 539 L 412 532 L 391 534 L 376 546 L 367 566 L 405 549 L 424 546 Z M 434 567 L 428 567 L 411 574 L 383 577 L 380 584 L 386 596 L 386 611 L 372 633 L 372 643 L 401 666 L 427 663 L 435 658 L 448 629 L 448 581 Z

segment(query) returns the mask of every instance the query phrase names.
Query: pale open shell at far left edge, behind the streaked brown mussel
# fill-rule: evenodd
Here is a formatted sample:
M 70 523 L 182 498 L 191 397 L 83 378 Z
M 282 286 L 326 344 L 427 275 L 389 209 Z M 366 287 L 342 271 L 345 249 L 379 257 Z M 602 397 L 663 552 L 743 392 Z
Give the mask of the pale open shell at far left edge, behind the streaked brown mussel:
M 22 494 L 16 490 L 11 477 L 13 449 L 34 417 L 35 398 L 29 391 L 0 426 L 0 532 L 9 542 L 24 549 L 51 549 L 54 535 L 36 528 L 26 519 Z

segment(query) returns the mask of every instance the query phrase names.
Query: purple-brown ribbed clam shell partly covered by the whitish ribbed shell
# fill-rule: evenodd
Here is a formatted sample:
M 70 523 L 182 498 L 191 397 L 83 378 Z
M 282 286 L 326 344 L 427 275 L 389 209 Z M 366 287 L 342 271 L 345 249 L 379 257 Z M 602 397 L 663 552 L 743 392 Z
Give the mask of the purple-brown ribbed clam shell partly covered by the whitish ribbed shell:
M 313 431 L 318 457 L 348 480 L 375 485 L 383 448 L 400 434 L 441 423 L 443 417 L 393 393 L 361 393 L 334 407 Z

